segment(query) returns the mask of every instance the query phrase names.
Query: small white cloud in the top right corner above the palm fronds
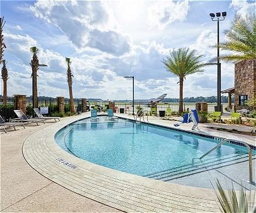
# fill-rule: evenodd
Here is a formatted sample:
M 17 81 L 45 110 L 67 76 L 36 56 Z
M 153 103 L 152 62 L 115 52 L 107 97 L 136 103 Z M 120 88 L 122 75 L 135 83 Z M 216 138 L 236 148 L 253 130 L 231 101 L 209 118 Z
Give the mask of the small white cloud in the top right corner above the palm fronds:
M 237 13 L 242 16 L 248 13 L 255 13 L 256 9 L 255 1 L 232 0 L 230 6 L 237 10 Z

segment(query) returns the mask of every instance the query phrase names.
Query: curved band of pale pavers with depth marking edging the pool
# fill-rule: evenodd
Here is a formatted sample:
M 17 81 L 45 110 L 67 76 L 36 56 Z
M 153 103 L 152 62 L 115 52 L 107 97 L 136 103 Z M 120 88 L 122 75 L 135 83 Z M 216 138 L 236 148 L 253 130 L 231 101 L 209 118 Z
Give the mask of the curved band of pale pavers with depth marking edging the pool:
M 28 164 L 75 193 L 126 212 L 219 211 L 213 190 L 115 171 L 62 150 L 54 140 L 58 130 L 89 117 L 87 113 L 57 122 L 29 136 L 23 144 Z

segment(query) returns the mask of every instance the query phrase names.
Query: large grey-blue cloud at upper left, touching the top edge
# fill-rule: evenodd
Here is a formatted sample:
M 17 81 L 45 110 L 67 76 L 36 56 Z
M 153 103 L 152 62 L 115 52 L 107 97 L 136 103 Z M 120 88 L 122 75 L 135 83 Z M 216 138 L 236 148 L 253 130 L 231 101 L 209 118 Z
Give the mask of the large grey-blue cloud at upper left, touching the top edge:
M 114 55 L 129 51 L 127 38 L 108 24 L 106 4 L 98 1 L 37 1 L 31 7 L 34 15 L 54 24 L 79 49 L 91 47 Z

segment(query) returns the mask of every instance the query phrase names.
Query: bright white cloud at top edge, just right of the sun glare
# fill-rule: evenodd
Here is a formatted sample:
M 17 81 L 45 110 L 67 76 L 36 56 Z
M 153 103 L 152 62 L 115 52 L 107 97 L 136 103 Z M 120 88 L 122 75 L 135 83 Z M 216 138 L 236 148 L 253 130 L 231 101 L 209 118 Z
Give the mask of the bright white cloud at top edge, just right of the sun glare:
M 176 20 L 184 21 L 188 10 L 188 1 L 158 1 L 148 8 L 148 20 L 151 26 L 164 29 Z

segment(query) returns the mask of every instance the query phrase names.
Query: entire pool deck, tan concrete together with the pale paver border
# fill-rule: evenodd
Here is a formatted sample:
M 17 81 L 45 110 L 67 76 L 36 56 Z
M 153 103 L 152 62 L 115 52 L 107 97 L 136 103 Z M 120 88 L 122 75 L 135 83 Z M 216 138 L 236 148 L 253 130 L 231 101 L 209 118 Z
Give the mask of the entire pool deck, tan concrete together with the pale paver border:
M 219 211 L 212 190 L 114 171 L 61 150 L 54 141 L 57 130 L 88 116 L 89 113 L 84 113 L 57 123 L 27 125 L 25 130 L 11 132 L 8 129 L 8 134 L 1 134 L 1 211 L 117 212 L 115 208 L 127 212 Z M 157 117 L 150 118 L 150 122 L 172 125 Z M 190 129 L 189 126 L 180 127 Z M 203 130 L 203 126 L 200 128 Z M 219 131 L 215 133 L 220 136 Z M 246 140 L 255 144 L 251 136 Z M 22 155 L 24 141 L 23 155 L 27 162 L 47 178 L 27 165 Z M 65 165 L 66 162 L 71 167 Z M 77 167 L 72 168 L 72 165 Z

